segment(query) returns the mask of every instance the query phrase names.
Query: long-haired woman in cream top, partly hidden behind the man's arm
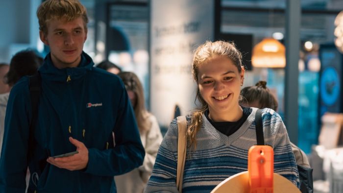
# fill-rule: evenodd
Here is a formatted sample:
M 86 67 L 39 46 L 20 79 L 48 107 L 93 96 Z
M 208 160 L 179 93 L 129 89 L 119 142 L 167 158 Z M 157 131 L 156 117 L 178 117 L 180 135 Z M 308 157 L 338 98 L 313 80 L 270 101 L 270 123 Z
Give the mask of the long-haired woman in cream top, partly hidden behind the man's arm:
M 162 142 L 162 134 L 155 116 L 147 112 L 145 108 L 143 87 L 137 75 L 133 72 L 120 72 L 118 75 L 123 80 L 127 95 L 135 111 L 146 156 L 143 165 L 139 168 L 123 175 L 115 176 L 117 192 L 143 193 L 155 163 L 157 150 Z

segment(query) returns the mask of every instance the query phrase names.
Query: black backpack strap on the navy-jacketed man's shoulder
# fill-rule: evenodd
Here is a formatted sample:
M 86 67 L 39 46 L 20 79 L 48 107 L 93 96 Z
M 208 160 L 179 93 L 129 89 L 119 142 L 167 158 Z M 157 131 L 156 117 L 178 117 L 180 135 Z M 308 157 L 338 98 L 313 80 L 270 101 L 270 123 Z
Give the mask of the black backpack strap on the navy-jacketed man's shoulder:
M 38 116 L 38 103 L 39 95 L 41 93 L 41 75 L 39 72 L 35 73 L 32 76 L 29 76 L 29 90 L 31 98 L 31 108 L 32 108 L 32 118 L 30 123 L 30 134 L 33 134 L 33 128 L 37 123 Z

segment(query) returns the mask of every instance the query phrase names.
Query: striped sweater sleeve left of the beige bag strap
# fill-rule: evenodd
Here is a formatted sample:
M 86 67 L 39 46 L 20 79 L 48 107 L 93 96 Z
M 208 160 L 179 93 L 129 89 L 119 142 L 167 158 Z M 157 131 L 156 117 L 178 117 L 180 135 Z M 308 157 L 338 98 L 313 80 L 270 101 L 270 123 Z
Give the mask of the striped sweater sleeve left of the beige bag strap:
M 177 137 L 175 119 L 158 149 L 155 165 L 144 193 L 178 193 L 176 187 Z

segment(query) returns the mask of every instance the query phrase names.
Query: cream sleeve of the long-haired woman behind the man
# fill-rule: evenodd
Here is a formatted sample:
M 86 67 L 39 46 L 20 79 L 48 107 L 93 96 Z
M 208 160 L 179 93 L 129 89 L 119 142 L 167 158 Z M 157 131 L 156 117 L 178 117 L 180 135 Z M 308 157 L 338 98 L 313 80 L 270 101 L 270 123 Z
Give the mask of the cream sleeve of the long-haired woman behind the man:
M 143 165 L 139 167 L 139 170 L 147 174 L 148 176 L 152 172 L 152 168 L 156 160 L 157 151 L 163 139 L 162 134 L 161 134 L 161 129 L 158 126 L 158 122 L 156 118 L 153 115 L 150 115 L 149 120 L 151 122 L 151 127 L 145 135 L 146 156 L 144 158 Z

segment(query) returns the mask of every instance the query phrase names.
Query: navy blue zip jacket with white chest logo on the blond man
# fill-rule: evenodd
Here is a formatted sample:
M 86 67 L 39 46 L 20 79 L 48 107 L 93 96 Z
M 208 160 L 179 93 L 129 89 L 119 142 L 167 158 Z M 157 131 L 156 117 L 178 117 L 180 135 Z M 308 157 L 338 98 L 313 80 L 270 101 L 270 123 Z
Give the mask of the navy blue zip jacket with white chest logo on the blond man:
M 93 65 L 86 53 L 77 68 L 57 69 L 50 54 L 46 57 L 39 69 L 42 92 L 33 156 L 28 156 L 32 117 L 28 78 L 12 88 L 0 160 L 0 193 L 24 193 L 26 168 L 31 165 L 44 168 L 40 175 L 31 172 L 30 191 L 115 193 L 113 176 L 142 165 L 145 150 L 123 82 Z M 46 162 L 48 156 L 75 151 L 70 136 L 88 148 L 89 161 L 83 170 L 59 169 Z

